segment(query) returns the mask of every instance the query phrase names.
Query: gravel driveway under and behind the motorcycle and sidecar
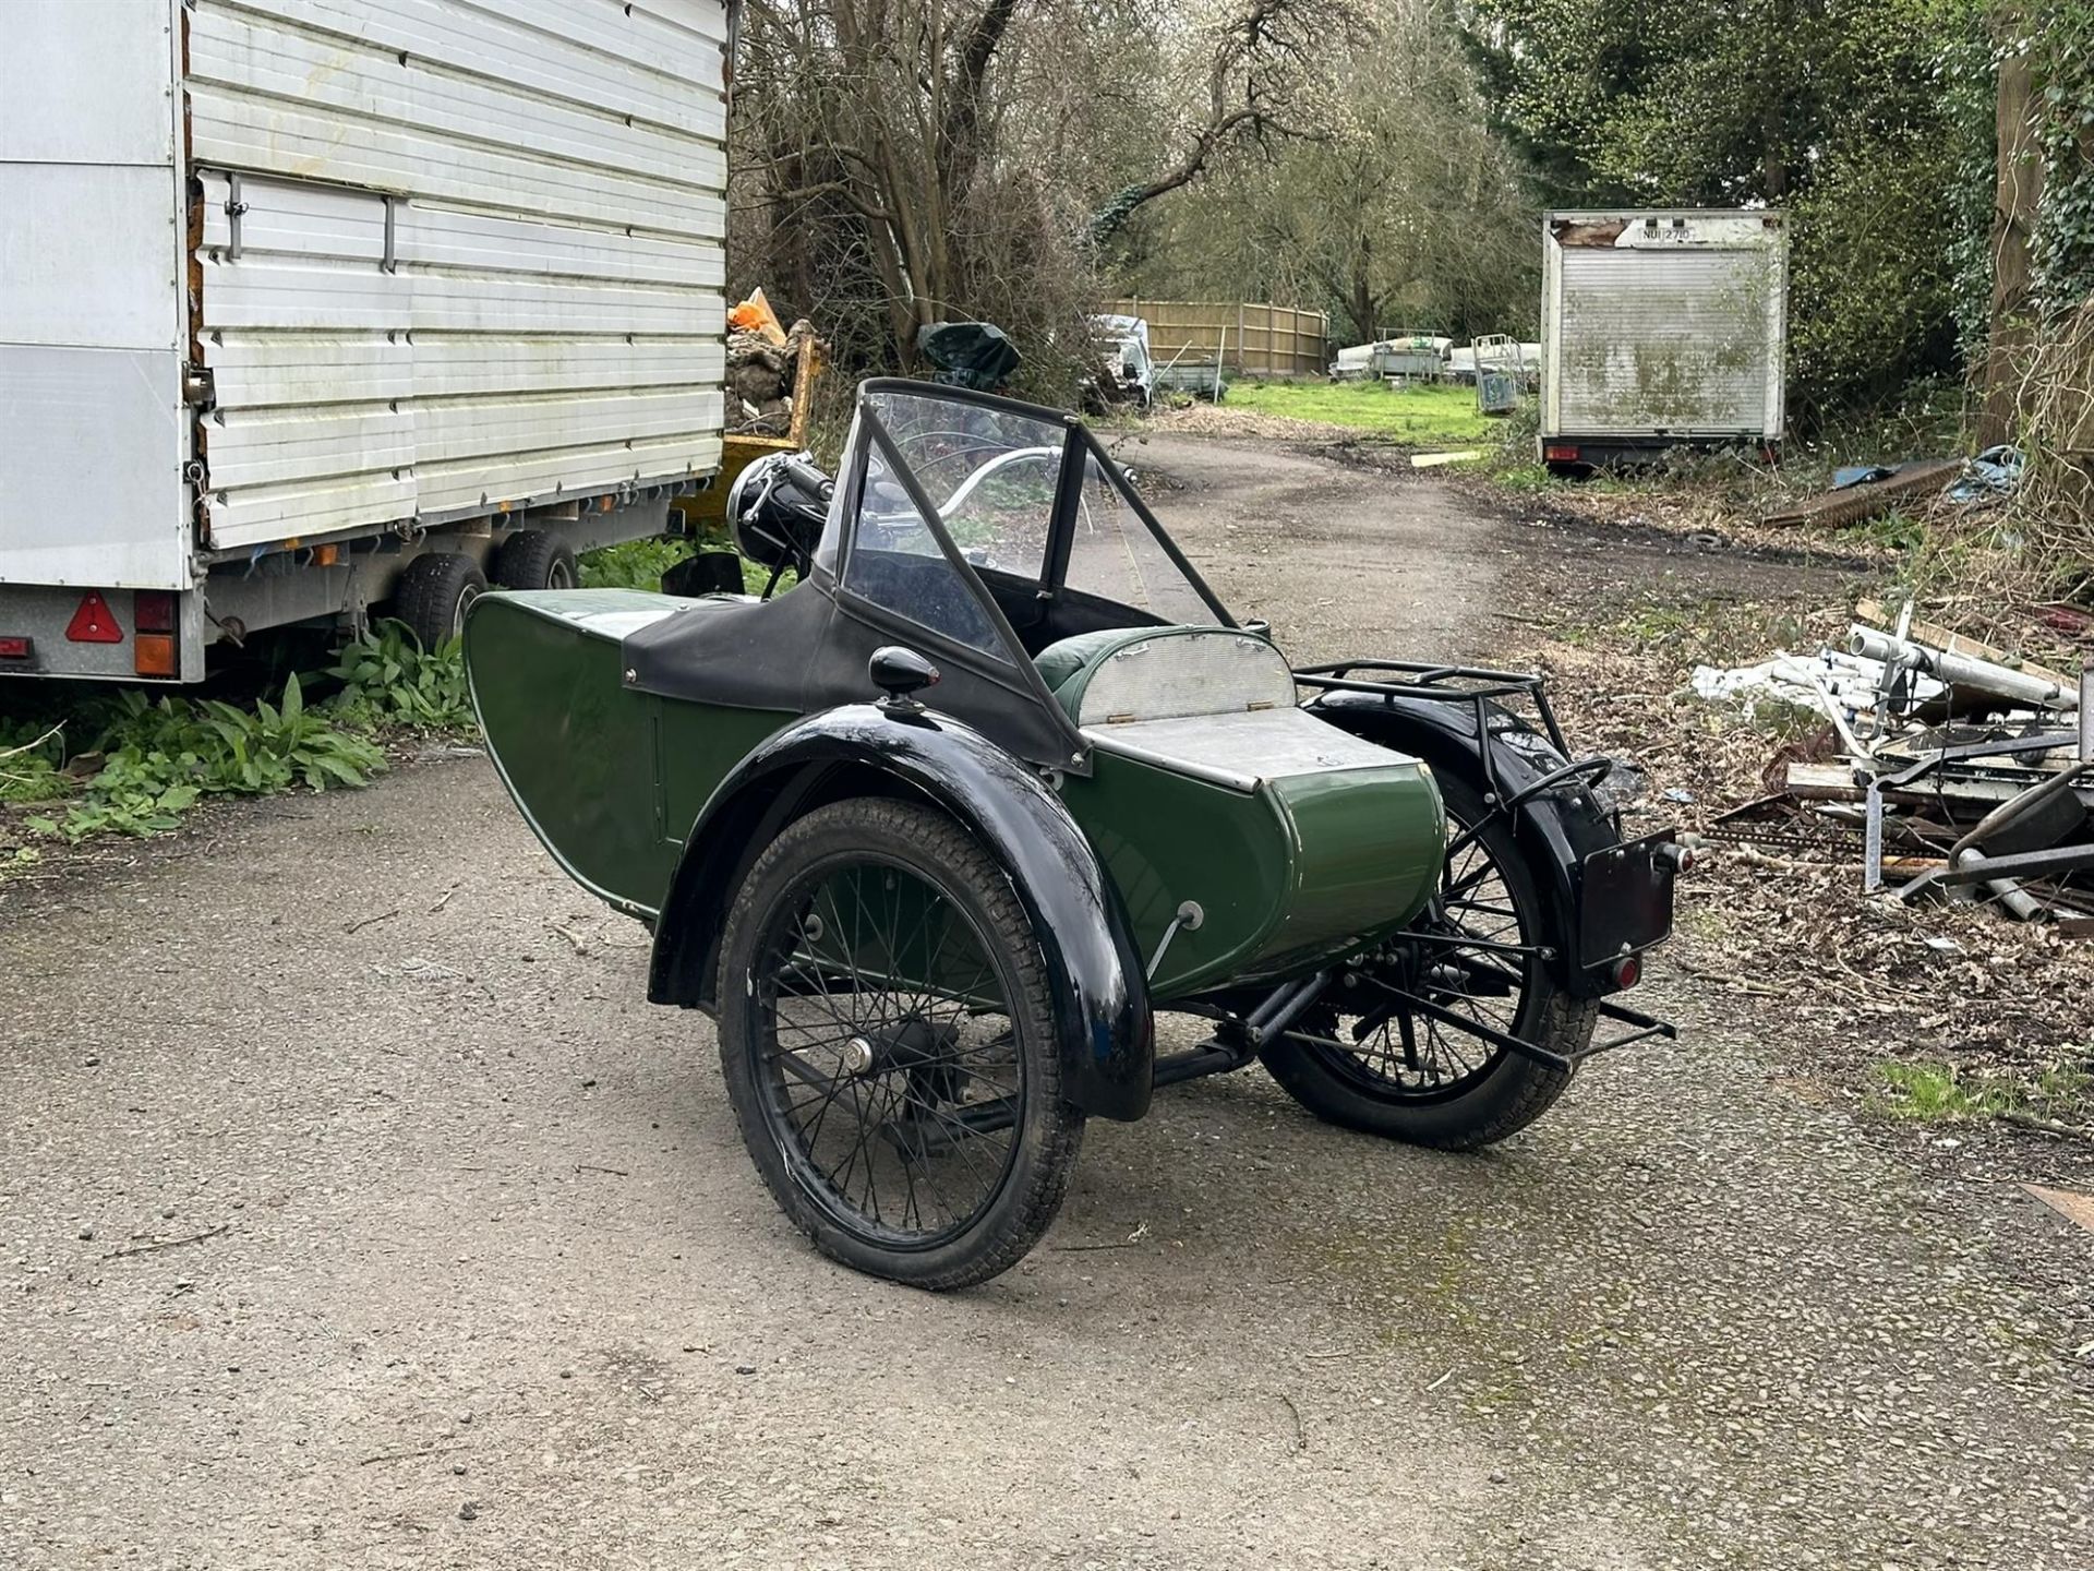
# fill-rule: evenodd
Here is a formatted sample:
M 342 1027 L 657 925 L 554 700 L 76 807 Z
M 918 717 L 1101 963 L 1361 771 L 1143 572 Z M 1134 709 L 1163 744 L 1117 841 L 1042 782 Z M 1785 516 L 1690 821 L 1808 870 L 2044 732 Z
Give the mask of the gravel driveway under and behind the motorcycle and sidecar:
M 1560 549 L 1131 457 L 1302 658 L 1489 654 Z M 2094 1565 L 2090 1364 L 2008 1265 L 2086 1236 L 1677 978 L 1679 1045 L 1483 1156 L 1258 1072 L 1093 1123 L 1045 1244 L 932 1299 L 783 1223 L 480 758 L 0 899 L 0 1567 Z

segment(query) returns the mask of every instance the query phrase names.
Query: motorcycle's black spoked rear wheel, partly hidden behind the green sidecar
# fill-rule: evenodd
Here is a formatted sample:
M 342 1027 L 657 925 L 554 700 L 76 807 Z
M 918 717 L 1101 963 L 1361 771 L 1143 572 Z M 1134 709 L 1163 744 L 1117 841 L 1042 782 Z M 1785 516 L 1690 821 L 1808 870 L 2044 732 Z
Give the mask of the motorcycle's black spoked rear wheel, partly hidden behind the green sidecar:
M 1439 785 L 1449 834 L 1483 821 L 1483 796 L 1472 783 L 1443 771 Z M 1405 982 L 1407 991 L 1560 1054 L 1591 1041 L 1598 1003 L 1558 989 L 1537 953 L 1562 953 L 1568 934 L 1556 930 L 1503 819 L 1485 823 L 1449 859 L 1420 928 L 1439 941 L 1424 945 L 1430 970 Z M 1464 947 L 1462 938 L 1495 947 Z M 1416 1146 L 1474 1150 L 1524 1129 L 1564 1093 L 1568 1070 L 1439 1020 L 1376 1010 L 1374 976 L 1388 964 L 1363 961 L 1363 982 L 1340 1008 L 1311 1010 L 1261 1052 L 1271 1077 L 1313 1114 Z M 1372 1012 L 1351 1014 L 1355 1008 Z

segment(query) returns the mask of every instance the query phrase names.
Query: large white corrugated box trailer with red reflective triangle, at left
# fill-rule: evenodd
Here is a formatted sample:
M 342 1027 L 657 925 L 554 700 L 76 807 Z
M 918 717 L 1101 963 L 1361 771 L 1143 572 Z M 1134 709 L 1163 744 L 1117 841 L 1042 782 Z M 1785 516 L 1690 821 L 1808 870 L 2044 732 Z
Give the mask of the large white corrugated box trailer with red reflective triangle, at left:
M 0 672 L 666 526 L 720 461 L 722 0 L 10 0 Z

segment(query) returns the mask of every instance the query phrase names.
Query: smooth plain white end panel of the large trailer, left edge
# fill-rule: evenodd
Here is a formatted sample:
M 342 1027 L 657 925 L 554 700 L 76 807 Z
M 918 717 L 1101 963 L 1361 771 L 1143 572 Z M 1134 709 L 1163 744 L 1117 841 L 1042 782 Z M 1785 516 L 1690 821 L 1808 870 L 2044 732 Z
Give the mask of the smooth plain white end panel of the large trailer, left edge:
M 0 584 L 188 587 L 172 29 L 170 0 L 6 6 Z

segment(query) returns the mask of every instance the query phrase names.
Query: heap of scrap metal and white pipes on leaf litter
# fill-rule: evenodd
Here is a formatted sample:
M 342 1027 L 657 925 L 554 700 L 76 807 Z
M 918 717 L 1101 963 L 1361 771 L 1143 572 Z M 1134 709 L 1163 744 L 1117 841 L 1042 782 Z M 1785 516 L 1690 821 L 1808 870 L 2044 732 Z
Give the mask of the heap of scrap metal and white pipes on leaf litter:
M 1845 649 L 1694 672 L 1702 698 L 1820 712 L 1709 838 L 1853 855 L 1870 894 L 1981 901 L 2094 936 L 2094 666 L 2069 677 L 1864 601 Z

